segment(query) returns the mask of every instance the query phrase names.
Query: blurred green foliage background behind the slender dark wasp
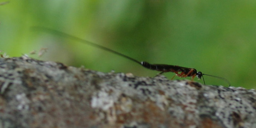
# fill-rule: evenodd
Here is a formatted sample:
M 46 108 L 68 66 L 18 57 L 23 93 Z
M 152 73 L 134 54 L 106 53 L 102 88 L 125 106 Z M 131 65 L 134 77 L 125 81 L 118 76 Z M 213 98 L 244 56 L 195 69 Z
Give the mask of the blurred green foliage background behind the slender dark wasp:
M 225 77 L 232 86 L 256 89 L 255 0 L 13 0 L 0 6 L 0 22 L 0 50 L 10 57 L 27 54 L 136 76 L 158 73 L 101 49 L 30 30 L 42 26 L 139 61 L 196 68 Z M 48 48 L 42 57 L 29 54 L 40 48 Z M 228 86 L 214 77 L 204 79 Z

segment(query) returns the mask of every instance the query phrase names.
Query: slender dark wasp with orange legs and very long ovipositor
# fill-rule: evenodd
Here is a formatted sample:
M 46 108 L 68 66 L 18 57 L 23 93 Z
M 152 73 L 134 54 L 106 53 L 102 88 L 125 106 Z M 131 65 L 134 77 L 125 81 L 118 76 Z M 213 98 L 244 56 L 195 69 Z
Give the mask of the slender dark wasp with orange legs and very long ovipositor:
M 131 58 L 131 57 L 127 56 L 127 55 L 124 55 L 124 54 L 122 54 L 120 52 L 116 52 L 116 51 L 114 51 L 112 49 L 106 48 L 105 46 L 101 46 L 101 45 L 92 43 L 90 41 L 86 41 L 84 39 L 81 39 L 81 38 L 78 38 L 78 37 L 66 34 L 64 32 L 60 32 L 60 31 L 57 31 L 57 30 L 52 30 L 52 29 L 44 28 L 44 27 L 33 27 L 33 29 L 34 30 L 47 31 L 49 33 L 52 33 L 52 34 L 55 34 L 55 35 L 59 35 L 61 37 L 70 38 L 70 39 L 79 41 L 79 42 L 81 42 L 83 44 L 91 45 L 91 46 L 94 46 L 96 48 L 100 48 L 100 49 L 103 49 L 105 51 L 112 52 L 112 53 L 114 53 L 116 55 L 122 56 L 124 58 L 129 59 L 129 60 L 132 60 L 133 62 L 138 63 L 138 64 L 142 65 L 143 67 L 145 67 L 147 69 L 160 71 L 160 73 L 158 75 L 163 74 L 165 72 L 174 72 L 175 75 L 178 76 L 178 77 L 191 77 L 191 80 L 193 80 L 194 77 L 197 76 L 198 80 L 203 78 L 203 81 L 204 81 L 203 75 L 206 75 L 206 76 L 211 76 L 211 77 L 216 77 L 216 78 L 222 79 L 222 80 L 226 81 L 229 84 L 229 86 L 230 86 L 230 82 L 227 79 L 225 79 L 223 77 L 219 77 L 219 76 L 203 74 L 202 72 L 197 72 L 197 70 L 194 69 L 194 68 L 186 68 L 186 67 L 181 67 L 181 66 L 177 66 L 177 65 L 150 64 L 150 63 L 145 62 L 145 61 L 140 62 L 140 61 L 138 61 L 138 60 L 136 60 L 134 58 Z M 204 81 L 204 84 L 205 84 L 205 81 Z

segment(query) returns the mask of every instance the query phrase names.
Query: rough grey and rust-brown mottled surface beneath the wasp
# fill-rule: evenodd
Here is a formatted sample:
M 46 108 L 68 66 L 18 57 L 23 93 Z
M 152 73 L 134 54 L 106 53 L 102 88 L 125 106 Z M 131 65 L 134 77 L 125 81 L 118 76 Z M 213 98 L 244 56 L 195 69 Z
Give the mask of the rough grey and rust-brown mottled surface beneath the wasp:
M 256 91 L 0 58 L 1 128 L 256 128 Z

